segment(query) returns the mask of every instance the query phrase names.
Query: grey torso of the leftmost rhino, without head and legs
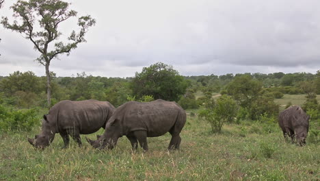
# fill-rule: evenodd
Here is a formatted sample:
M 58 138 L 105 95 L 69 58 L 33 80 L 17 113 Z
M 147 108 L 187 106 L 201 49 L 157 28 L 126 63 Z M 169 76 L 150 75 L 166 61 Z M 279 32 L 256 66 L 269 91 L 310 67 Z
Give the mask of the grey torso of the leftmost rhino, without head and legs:
M 111 117 L 114 106 L 106 101 L 60 101 L 50 110 L 47 118 L 55 124 L 56 132 L 77 129 L 80 134 L 96 132 Z

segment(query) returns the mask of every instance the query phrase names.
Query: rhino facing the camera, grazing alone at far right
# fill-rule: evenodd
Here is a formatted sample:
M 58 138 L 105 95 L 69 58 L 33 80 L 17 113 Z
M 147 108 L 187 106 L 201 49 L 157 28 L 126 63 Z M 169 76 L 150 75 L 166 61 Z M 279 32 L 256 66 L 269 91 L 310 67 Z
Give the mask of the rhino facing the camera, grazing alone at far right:
M 299 106 L 290 106 L 280 112 L 278 122 L 284 138 L 289 136 L 291 141 L 296 138 L 299 145 L 305 145 L 309 130 L 309 119 L 310 116 Z

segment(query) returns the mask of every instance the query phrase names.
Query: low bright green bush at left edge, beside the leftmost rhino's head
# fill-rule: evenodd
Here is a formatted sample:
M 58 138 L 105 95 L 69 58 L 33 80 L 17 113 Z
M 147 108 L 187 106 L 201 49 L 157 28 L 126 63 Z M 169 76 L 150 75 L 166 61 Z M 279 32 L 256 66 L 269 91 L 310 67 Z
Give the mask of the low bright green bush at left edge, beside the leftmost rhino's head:
M 8 131 L 29 131 L 39 123 L 38 110 L 14 110 L 0 105 L 0 130 Z

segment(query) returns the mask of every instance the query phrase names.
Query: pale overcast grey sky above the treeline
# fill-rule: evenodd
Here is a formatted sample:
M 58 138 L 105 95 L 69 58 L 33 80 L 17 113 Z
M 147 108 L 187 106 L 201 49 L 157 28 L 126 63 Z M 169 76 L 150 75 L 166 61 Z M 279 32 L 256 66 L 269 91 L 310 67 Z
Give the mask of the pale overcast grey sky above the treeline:
M 15 1 L 0 16 L 10 22 Z M 70 0 L 79 16 L 96 25 L 87 43 L 52 60 L 57 76 L 133 77 L 156 62 L 181 75 L 316 73 L 320 69 L 320 1 L 301 0 Z M 78 29 L 62 23 L 62 40 Z M 0 25 L 0 75 L 45 75 L 30 40 Z

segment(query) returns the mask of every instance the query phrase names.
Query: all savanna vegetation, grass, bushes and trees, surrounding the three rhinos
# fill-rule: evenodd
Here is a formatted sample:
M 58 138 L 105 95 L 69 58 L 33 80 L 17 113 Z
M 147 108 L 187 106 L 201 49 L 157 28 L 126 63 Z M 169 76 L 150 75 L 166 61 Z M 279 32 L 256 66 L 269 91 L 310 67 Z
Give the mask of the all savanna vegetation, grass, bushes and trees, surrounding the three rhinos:
M 51 60 L 85 42 L 95 24 L 91 16 L 81 16 L 80 32 L 59 40 L 59 23 L 77 15 L 69 5 L 19 0 L 12 10 L 22 23 L 1 21 L 31 40 L 46 76 L 15 71 L 0 77 L 0 180 L 320 180 L 320 70 L 183 76 L 158 62 L 135 77 L 85 72 L 59 77 L 49 71 Z M 126 138 L 112 150 L 89 143 L 79 148 L 74 141 L 61 149 L 60 136 L 43 151 L 34 149 L 27 137 L 38 134 L 42 115 L 66 99 L 97 99 L 116 107 L 126 101 L 176 101 L 187 110 L 181 149 L 168 152 L 170 134 L 148 138 L 148 152 L 131 151 Z M 278 113 L 291 105 L 311 117 L 304 147 L 286 142 L 278 127 Z

